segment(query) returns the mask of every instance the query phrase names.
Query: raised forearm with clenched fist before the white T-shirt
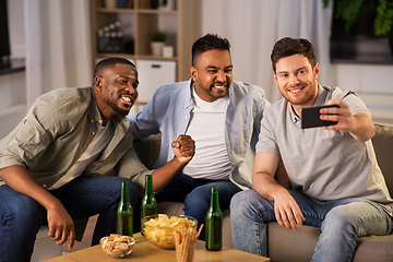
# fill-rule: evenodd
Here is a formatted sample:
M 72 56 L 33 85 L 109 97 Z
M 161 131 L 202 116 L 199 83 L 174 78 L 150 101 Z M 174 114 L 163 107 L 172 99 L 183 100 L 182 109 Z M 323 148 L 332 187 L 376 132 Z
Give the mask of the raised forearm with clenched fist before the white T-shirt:
M 174 157 L 165 166 L 153 171 L 153 191 L 163 190 L 192 159 L 195 154 L 195 143 L 190 135 L 180 134 L 176 141 L 171 143 Z

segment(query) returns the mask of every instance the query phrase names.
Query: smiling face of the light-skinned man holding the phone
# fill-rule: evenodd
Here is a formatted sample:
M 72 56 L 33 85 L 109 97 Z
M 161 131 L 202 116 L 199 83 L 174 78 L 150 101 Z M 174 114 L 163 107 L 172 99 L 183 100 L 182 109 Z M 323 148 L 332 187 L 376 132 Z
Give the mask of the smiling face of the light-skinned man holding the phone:
M 318 95 L 319 64 L 312 68 L 307 57 L 293 55 L 281 58 L 275 66 L 274 80 L 284 98 L 296 110 L 313 106 Z

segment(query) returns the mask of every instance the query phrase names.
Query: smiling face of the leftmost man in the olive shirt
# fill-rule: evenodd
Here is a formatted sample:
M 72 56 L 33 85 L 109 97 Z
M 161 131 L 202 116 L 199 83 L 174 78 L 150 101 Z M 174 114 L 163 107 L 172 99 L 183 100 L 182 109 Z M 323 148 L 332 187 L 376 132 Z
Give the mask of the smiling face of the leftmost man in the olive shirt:
M 138 72 L 131 64 L 116 63 L 95 78 L 94 93 L 104 122 L 126 117 L 138 97 Z

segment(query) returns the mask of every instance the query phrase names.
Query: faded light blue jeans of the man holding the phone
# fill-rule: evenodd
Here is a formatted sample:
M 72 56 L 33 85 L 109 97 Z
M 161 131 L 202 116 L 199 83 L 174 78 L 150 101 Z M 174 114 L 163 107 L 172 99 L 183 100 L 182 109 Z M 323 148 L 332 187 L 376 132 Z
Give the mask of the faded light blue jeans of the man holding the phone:
M 372 201 L 318 201 L 289 192 L 306 218 L 303 225 L 321 228 L 312 261 L 352 261 L 358 237 L 392 231 L 392 217 Z M 239 192 L 231 200 L 230 217 L 235 249 L 267 257 L 266 223 L 276 221 L 273 201 L 253 190 Z

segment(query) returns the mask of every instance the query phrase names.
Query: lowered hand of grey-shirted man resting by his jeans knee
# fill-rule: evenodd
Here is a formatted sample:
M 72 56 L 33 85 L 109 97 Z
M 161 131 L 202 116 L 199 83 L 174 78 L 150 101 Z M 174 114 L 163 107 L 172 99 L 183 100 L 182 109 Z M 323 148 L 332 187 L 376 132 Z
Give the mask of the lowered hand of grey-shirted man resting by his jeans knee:
M 288 191 L 274 195 L 274 213 L 278 225 L 296 230 L 306 221 L 299 205 Z

